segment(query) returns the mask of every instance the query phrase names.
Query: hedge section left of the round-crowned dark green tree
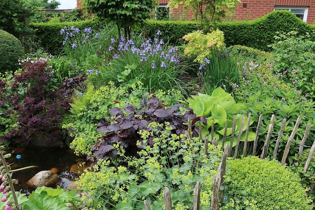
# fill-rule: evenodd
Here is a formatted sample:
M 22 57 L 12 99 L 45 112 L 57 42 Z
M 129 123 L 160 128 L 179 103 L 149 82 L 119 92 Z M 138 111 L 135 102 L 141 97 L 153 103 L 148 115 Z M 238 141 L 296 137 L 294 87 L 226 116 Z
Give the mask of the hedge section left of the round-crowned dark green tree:
M 33 29 L 37 29 L 35 32 L 35 40 L 41 42 L 41 46 L 47 49 L 49 53 L 60 54 L 60 47 L 62 46 L 62 41 L 64 37 L 60 35 L 60 29 L 64 26 L 79 28 L 84 30 L 84 28 L 91 27 L 93 30 L 98 30 L 102 28 L 103 22 L 97 18 L 85 21 L 77 22 L 63 22 L 63 23 L 31 23 Z

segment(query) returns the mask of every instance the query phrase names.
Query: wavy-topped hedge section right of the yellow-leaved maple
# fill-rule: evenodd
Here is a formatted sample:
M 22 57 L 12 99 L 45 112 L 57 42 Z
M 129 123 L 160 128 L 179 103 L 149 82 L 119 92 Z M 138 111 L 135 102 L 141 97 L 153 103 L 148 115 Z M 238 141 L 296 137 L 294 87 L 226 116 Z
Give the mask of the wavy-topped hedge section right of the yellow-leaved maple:
M 224 31 L 226 46 L 244 45 L 267 52 L 271 50 L 267 45 L 274 42 L 277 31 L 305 34 L 315 30 L 315 25 L 303 22 L 287 10 L 276 10 L 250 21 L 222 22 L 218 27 Z

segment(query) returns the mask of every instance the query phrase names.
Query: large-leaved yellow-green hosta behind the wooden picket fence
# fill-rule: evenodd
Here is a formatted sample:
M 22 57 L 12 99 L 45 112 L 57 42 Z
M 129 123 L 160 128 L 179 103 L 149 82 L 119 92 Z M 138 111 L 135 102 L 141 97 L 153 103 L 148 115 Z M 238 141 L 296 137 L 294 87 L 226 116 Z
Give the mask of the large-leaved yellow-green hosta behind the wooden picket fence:
M 183 104 L 187 104 L 189 108 L 193 109 L 196 116 L 204 116 L 207 118 L 207 124 L 203 124 L 203 134 L 208 134 L 211 129 L 212 122 L 214 121 L 214 137 L 218 140 L 223 138 L 225 130 L 225 121 L 227 122 L 227 134 L 232 134 L 233 116 L 236 116 L 235 134 L 239 133 L 239 129 L 242 122 L 242 112 L 245 107 L 244 104 L 237 104 L 231 94 L 226 93 L 221 87 L 216 88 L 212 95 L 198 94 L 198 96 L 192 95 L 192 99 L 188 98 L 187 101 L 183 101 Z M 248 118 L 245 117 L 245 123 L 243 130 L 247 127 Z M 250 121 L 250 124 L 252 121 Z M 249 132 L 248 141 L 253 141 L 255 133 Z M 245 133 L 242 134 L 241 141 L 245 139 Z M 230 139 L 226 139 L 226 143 L 229 144 Z M 233 142 L 233 146 L 236 145 L 236 141 Z

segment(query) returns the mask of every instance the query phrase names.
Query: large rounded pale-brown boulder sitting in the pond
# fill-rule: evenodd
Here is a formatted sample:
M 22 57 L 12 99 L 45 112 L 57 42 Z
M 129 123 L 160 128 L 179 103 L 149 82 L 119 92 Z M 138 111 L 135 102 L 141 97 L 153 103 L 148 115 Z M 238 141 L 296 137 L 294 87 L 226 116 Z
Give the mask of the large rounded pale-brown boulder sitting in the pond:
M 37 187 L 50 187 L 58 183 L 60 178 L 58 177 L 57 174 L 51 172 L 51 171 L 41 171 L 35 174 L 33 178 L 28 180 L 26 184 L 28 186 L 37 188 Z

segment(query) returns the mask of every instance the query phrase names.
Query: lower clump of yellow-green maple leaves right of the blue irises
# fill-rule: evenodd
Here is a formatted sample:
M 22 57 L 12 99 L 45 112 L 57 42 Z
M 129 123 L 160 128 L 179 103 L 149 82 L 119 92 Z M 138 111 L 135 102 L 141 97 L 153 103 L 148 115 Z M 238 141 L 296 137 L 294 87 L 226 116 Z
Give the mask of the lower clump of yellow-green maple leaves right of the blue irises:
M 225 48 L 223 31 L 217 29 L 204 34 L 203 31 L 194 31 L 183 37 L 188 42 L 184 53 L 188 56 L 196 56 L 195 62 L 202 63 L 205 58 L 210 58 L 213 49 Z

